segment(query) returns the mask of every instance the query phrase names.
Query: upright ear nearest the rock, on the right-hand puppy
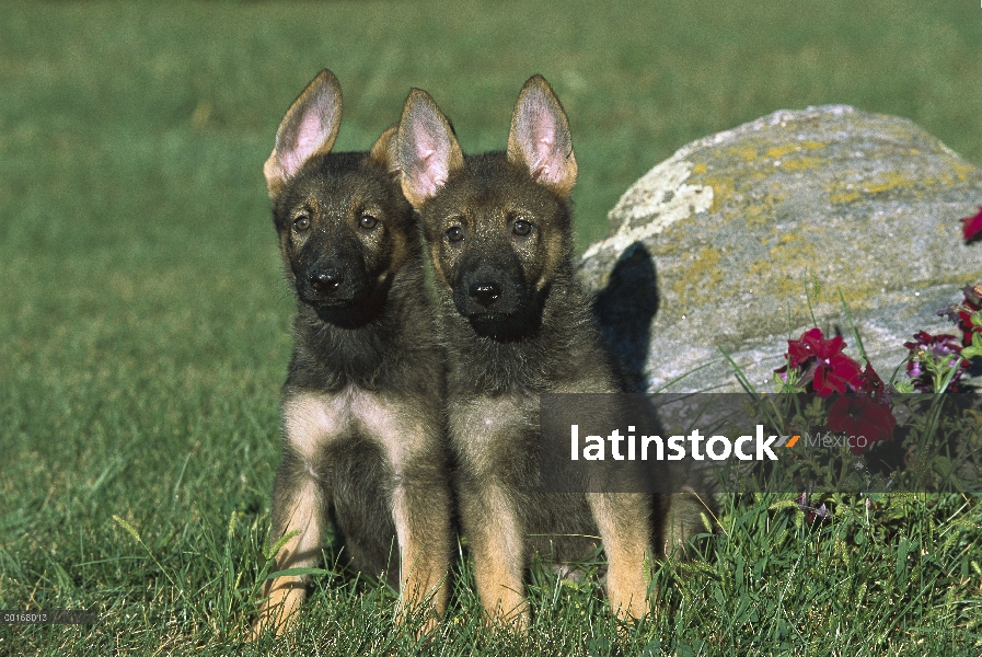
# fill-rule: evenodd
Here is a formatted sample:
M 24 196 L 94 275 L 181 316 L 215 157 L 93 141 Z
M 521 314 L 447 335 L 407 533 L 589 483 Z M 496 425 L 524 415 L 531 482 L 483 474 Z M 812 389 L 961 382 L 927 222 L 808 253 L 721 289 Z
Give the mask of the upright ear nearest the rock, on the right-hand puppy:
M 576 184 L 576 157 L 569 122 L 542 76 L 532 76 L 518 94 L 508 135 L 508 161 L 524 166 L 532 180 L 559 196 Z

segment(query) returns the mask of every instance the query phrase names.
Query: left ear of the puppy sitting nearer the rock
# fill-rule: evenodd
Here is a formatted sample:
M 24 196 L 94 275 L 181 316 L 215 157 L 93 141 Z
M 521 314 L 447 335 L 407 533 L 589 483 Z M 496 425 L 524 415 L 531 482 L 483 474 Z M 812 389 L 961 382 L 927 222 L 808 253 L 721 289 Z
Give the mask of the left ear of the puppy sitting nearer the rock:
M 447 117 L 421 89 L 414 89 L 406 99 L 397 141 L 403 195 L 419 209 L 463 168 L 464 154 Z

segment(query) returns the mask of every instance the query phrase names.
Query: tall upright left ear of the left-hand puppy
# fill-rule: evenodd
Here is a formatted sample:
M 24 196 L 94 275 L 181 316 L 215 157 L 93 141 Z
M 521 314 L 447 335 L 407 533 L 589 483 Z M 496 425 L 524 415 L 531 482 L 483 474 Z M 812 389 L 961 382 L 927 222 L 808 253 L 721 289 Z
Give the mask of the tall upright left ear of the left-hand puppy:
M 340 85 L 334 73 L 324 69 L 293 101 L 276 131 L 276 146 L 263 166 L 270 198 L 304 162 L 331 151 L 339 126 Z

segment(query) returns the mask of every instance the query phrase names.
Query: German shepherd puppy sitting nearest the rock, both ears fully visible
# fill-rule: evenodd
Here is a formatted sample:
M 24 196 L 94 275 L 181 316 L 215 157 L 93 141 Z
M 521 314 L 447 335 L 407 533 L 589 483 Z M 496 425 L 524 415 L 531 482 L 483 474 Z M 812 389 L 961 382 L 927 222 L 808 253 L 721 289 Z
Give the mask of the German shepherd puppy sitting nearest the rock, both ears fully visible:
M 570 552 L 568 537 L 599 534 L 611 607 L 644 615 L 661 505 L 643 494 L 539 489 L 539 394 L 623 390 L 575 278 L 577 164 L 563 107 L 535 76 L 519 94 L 508 150 L 464 157 L 432 99 L 413 90 L 397 159 L 441 302 L 460 520 L 483 607 L 493 622 L 524 625 L 522 577 L 538 548 L 530 534 L 552 535 L 545 545 L 561 560 L 588 553 L 581 543 Z

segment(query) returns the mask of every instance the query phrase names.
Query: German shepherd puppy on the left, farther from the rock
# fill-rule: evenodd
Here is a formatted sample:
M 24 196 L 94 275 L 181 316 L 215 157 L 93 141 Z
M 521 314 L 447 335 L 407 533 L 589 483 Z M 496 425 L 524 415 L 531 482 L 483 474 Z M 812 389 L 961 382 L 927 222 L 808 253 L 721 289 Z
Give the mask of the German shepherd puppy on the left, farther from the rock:
M 431 626 L 447 604 L 452 537 L 444 358 L 395 127 L 371 152 L 331 153 L 340 112 L 337 79 L 323 70 L 264 166 L 298 300 L 270 542 L 296 535 L 275 567 L 314 565 L 331 518 L 351 565 L 400 587 L 401 609 L 428 604 Z M 302 576 L 268 581 L 254 634 L 281 632 L 304 596 Z

